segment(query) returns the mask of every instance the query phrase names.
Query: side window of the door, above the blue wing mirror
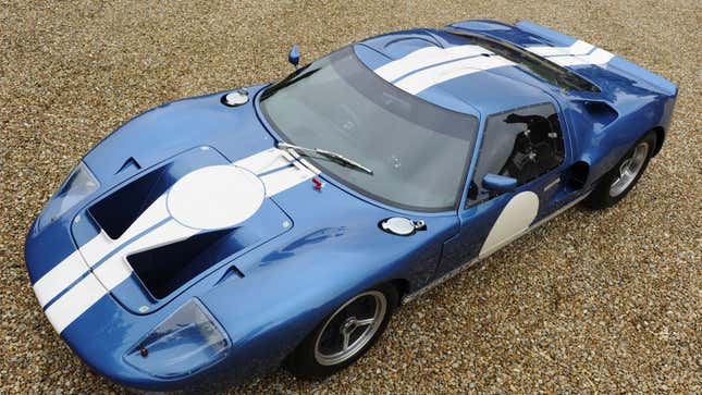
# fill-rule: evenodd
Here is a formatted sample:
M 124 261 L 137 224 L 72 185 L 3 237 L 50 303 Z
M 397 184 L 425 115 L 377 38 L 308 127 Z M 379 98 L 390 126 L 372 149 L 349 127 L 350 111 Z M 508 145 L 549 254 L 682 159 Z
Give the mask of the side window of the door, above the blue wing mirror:
M 495 196 L 482 187 L 485 174 L 517 178 L 522 185 L 557 168 L 564 152 L 558 113 L 553 104 L 490 115 L 468 192 L 468 205 Z

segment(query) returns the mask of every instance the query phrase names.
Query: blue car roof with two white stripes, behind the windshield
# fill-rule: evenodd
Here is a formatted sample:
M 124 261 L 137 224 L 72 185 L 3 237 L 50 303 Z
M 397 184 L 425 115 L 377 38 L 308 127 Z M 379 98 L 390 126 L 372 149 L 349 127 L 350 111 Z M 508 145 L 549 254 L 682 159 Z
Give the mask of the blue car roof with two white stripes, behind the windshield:
M 412 29 L 354 46 L 360 61 L 395 86 L 431 103 L 476 116 L 553 102 L 549 83 L 469 37 Z

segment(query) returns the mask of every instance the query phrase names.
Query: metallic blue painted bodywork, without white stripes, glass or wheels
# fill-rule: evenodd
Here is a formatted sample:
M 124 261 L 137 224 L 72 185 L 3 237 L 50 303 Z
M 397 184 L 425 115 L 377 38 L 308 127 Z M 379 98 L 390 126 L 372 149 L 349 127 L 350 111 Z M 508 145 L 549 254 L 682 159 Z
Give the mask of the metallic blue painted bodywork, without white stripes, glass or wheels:
M 567 46 L 574 38 L 521 22 L 514 26 L 467 21 L 454 28 L 517 46 Z M 371 69 L 426 45 L 460 45 L 465 38 L 433 29 L 399 32 L 364 40 L 356 53 Z M 320 174 L 322 190 L 301 183 L 271 199 L 231 238 L 235 254 L 213 263 L 163 299 L 153 299 L 133 277 L 101 297 L 63 332 L 62 337 L 93 369 L 128 386 L 183 388 L 218 380 L 245 380 L 276 367 L 317 324 L 343 301 L 375 284 L 401 280 L 416 292 L 477 257 L 492 224 L 509 198 L 533 190 L 541 205 L 537 221 L 586 194 L 643 133 L 668 129 L 677 87 L 621 58 L 605 67 L 581 65 L 574 71 L 596 84 L 601 92 L 566 91 L 516 67 L 475 73 L 427 89 L 428 101 L 481 119 L 512 108 L 553 102 L 559 109 L 566 159 L 556 170 L 487 202 L 467 203 L 465 186 L 458 211 L 421 213 L 373 201 Z M 188 169 L 227 163 L 274 146 L 273 128 L 260 114 L 258 94 L 229 108 L 225 92 L 175 101 L 147 111 L 103 139 L 84 160 L 99 180 L 91 197 L 40 230 L 29 230 L 25 259 L 36 283 L 44 274 L 95 236 L 88 209 L 119 188 L 169 163 L 177 180 Z M 593 111 L 594 110 L 594 111 Z M 472 180 L 482 132 L 478 136 L 467 180 Z M 210 147 L 200 151 L 199 147 Z M 576 162 L 589 165 L 586 184 L 566 182 Z M 561 180 L 544 192 L 545 185 Z M 76 215 L 83 219 L 74 223 Z M 427 230 L 397 237 L 378 227 L 394 215 L 423 220 Z M 292 226 L 276 226 L 282 221 Z M 247 233 L 248 232 L 248 233 Z M 235 264 L 243 273 L 233 275 Z M 90 274 L 88 274 L 90 275 Z M 181 306 L 198 298 L 231 341 L 222 360 L 172 379 L 149 374 L 126 363 L 138 342 Z M 149 306 L 148 313 L 138 307 Z M 148 358 L 148 357 L 146 357 Z M 156 363 L 156 362 L 155 362 Z

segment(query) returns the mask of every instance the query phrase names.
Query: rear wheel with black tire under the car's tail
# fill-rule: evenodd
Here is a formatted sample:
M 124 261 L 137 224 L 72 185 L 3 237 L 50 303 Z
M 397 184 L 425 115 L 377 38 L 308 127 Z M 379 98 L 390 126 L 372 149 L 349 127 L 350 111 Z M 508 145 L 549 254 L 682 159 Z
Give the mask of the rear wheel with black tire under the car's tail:
M 602 210 L 616 205 L 633 188 L 649 165 L 656 146 L 655 132 L 648 132 L 594 187 L 584 205 Z

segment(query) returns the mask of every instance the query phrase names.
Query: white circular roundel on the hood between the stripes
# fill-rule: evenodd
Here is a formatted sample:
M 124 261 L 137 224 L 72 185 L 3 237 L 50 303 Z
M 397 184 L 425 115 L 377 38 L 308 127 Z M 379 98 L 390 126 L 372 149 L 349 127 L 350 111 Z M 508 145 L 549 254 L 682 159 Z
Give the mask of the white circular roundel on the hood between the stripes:
M 261 207 L 266 188 L 254 173 L 233 165 L 198 169 L 169 192 L 169 212 L 185 226 L 218 230 L 246 221 Z

